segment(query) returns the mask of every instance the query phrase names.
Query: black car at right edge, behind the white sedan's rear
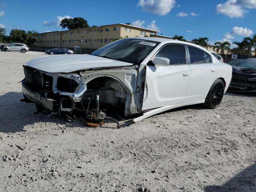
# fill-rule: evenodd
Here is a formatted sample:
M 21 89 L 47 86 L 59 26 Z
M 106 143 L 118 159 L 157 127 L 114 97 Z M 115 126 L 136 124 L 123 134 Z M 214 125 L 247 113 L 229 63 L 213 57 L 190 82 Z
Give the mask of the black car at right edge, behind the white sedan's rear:
M 229 90 L 256 92 L 256 59 L 246 59 L 232 68 Z

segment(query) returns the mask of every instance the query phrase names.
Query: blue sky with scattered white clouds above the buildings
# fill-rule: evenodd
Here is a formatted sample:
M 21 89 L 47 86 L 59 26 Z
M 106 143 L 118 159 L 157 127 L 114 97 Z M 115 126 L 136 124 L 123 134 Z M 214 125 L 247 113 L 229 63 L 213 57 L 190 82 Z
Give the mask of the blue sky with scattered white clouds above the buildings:
M 192 13 L 192 14 L 191 14 Z M 0 0 L 0 27 L 38 32 L 62 30 L 64 16 L 83 17 L 89 25 L 134 23 L 187 40 L 206 36 L 240 41 L 256 32 L 256 0 Z

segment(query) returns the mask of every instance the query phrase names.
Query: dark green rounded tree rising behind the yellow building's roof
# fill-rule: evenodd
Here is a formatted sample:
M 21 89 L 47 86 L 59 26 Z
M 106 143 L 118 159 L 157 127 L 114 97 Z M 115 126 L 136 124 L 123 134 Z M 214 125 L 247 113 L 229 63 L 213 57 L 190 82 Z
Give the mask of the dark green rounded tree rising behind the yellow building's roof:
M 82 17 L 75 17 L 70 19 L 65 18 L 60 22 L 60 26 L 62 26 L 62 29 L 68 28 L 69 30 L 90 27 L 87 21 Z

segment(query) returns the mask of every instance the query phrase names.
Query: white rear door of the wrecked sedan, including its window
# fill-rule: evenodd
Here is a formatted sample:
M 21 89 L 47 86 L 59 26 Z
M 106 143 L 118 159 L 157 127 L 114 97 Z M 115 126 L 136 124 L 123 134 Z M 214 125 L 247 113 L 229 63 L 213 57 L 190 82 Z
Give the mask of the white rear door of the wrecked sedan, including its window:
M 185 102 L 204 100 L 216 80 L 217 66 L 212 56 L 200 48 L 188 46 L 188 55 L 191 74 Z

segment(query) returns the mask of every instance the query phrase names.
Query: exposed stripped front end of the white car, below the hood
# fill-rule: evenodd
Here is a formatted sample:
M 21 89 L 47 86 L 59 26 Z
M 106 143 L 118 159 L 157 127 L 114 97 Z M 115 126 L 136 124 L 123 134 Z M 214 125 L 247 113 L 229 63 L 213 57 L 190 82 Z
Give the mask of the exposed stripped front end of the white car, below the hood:
M 110 120 L 119 127 L 118 121 L 105 112 L 107 108 L 124 116 L 140 112 L 143 93 L 137 94 L 137 73 L 136 66 L 51 73 L 24 65 L 22 101 L 34 102 L 38 109 L 47 108 L 56 113 L 80 111 L 88 126 L 101 126 Z M 136 103 L 137 95 L 141 98 Z

